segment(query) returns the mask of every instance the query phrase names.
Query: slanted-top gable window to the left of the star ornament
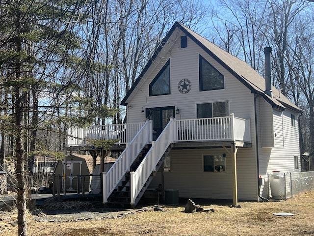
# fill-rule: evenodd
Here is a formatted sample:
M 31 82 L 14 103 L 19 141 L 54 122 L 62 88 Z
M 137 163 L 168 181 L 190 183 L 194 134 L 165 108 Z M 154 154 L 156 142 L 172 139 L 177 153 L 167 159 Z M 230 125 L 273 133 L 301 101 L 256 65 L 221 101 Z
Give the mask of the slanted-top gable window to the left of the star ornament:
M 170 59 L 161 68 L 157 76 L 149 85 L 149 95 L 170 94 Z

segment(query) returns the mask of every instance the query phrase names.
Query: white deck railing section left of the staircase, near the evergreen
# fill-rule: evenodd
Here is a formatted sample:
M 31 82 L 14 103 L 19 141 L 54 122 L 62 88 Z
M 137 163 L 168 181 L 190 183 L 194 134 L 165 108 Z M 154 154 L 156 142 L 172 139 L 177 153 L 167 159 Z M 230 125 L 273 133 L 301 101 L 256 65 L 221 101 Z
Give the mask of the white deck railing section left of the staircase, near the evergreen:
M 93 125 L 86 128 L 70 127 L 67 146 L 85 146 L 89 140 L 119 140 L 117 143 L 130 143 L 144 122 L 128 124 Z

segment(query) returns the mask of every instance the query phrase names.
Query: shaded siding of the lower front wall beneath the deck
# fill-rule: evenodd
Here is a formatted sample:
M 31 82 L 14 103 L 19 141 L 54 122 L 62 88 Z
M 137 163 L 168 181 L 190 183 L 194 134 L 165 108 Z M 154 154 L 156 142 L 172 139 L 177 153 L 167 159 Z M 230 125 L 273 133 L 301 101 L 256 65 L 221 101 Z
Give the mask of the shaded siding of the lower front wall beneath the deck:
M 256 172 L 252 166 L 251 148 L 237 152 L 238 199 L 257 201 Z M 165 189 L 179 190 L 181 198 L 232 199 L 232 162 L 226 155 L 226 172 L 203 172 L 204 155 L 222 155 L 224 149 L 185 149 L 172 150 L 171 173 L 165 173 Z M 153 179 L 149 188 L 161 183 L 161 173 Z

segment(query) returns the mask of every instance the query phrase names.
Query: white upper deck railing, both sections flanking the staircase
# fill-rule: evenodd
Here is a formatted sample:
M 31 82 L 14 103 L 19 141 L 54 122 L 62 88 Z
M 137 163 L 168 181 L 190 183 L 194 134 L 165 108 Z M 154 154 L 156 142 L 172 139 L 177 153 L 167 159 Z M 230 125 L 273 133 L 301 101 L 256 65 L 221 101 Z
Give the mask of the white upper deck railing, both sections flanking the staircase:
M 229 117 L 174 119 L 174 142 L 238 140 L 251 142 L 250 119 Z M 128 144 L 144 125 L 140 123 L 95 125 L 87 128 L 71 127 L 68 146 L 84 146 L 88 140 L 119 140 Z

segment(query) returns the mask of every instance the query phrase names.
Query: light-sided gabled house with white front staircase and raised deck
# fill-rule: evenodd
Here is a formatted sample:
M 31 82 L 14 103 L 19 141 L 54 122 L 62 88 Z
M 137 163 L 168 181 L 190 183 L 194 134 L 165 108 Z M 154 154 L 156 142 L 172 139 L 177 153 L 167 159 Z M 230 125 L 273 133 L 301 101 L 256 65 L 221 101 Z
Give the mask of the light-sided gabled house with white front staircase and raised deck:
M 125 130 L 120 145 L 128 145 L 103 175 L 104 203 L 136 205 L 161 187 L 237 205 L 266 197 L 260 177 L 297 175 L 301 111 L 271 86 L 271 49 L 264 52 L 266 80 L 176 22 L 121 102 L 127 123 L 114 130 Z

